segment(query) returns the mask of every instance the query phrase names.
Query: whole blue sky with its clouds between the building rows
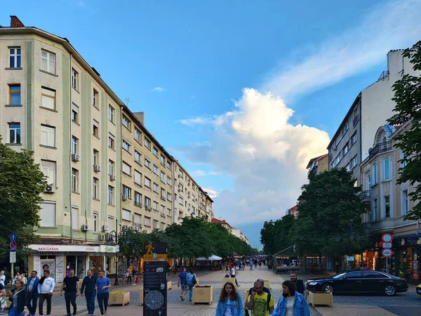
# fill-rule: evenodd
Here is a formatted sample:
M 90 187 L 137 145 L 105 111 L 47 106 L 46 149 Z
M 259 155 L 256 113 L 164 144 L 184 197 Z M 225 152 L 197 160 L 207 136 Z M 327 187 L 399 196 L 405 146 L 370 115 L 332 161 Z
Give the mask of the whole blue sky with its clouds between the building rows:
M 392 49 L 421 39 L 421 0 L 56 0 L 1 5 L 0 25 L 66 37 L 260 247 L 309 159 Z M 289 246 L 289 245 L 286 245 Z

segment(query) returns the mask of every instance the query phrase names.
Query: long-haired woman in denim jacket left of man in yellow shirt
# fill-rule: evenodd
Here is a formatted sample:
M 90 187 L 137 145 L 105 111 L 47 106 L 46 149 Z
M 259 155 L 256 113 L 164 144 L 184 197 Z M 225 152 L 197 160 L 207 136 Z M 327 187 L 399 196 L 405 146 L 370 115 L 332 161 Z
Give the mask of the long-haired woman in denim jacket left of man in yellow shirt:
M 215 316 L 243 316 L 243 302 L 232 282 L 225 283 L 221 290 Z

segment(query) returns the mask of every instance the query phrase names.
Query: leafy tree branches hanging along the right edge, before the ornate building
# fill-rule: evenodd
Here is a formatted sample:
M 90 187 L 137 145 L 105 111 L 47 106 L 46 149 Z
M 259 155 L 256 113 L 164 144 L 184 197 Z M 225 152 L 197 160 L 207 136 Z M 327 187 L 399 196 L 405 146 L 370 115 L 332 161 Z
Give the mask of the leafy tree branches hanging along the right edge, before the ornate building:
M 403 51 L 403 57 L 409 58 L 413 70 L 421 71 L 421 41 L 418 41 L 412 48 Z M 406 153 L 401 162 L 403 168 L 399 169 L 397 183 L 409 181 L 414 186 L 410 192 L 410 199 L 420 201 L 421 199 L 421 75 L 412 76 L 405 74 L 393 85 L 394 98 L 396 103 L 394 114 L 388 123 L 392 126 L 403 125 L 410 122 L 408 131 L 396 136 L 395 144 L 401 152 Z M 416 204 L 406 214 L 405 220 L 421 219 L 421 204 Z

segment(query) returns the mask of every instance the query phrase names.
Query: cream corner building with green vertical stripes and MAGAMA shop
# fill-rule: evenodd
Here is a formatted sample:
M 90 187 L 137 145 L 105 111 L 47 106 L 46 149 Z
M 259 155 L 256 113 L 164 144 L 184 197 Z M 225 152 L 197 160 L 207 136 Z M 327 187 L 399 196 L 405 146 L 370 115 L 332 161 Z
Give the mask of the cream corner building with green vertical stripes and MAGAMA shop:
M 34 151 L 48 179 L 29 270 L 47 263 L 58 282 L 67 267 L 113 272 L 105 231 L 120 221 L 123 103 L 67 39 L 15 16 L 0 27 L 0 65 L 2 141 Z

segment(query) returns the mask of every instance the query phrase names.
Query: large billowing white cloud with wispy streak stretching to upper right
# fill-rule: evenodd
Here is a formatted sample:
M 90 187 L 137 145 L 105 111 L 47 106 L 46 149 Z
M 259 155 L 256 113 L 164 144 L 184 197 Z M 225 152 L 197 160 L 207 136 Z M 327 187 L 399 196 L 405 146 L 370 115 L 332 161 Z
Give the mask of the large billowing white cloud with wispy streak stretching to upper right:
M 272 72 L 259 90 L 243 89 L 234 111 L 180 120 L 202 130 L 208 127 L 208 140 L 176 150 L 234 178 L 233 190 L 222 190 L 215 198 L 215 216 L 234 226 L 261 223 L 280 218 L 295 205 L 307 182 L 305 167 L 326 152 L 329 137 L 320 129 L 291 124 L 294 112 L 284 100 L 335 84 L 384 61 L 390 49 L 412 45 L 421 34 L 420 12 L 421 0 L 373 7 L 359 19 L 360 25 L 311 53 L 300 48 L 302 60 Z

